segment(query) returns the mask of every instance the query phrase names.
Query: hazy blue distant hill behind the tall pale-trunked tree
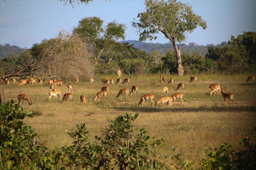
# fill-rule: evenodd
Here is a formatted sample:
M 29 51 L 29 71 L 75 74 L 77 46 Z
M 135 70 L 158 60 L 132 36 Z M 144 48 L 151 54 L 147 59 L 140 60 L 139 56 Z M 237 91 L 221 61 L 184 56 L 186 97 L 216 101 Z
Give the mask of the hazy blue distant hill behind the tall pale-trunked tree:
M 134 40 L 127 40 L 127 41 L 120 41 L 122 43 L 129 43 L 131 45 L 134 45 L 134 47 L 138 48 L 139 50 L 143 50 L 147 53 L 155 50 L 159 53 L 166 53 L 170 48 L 172 48 L 172 50 L 174 50 L 173 45 L 170 43 L 145 43 L 145 42 L 140 42 L 140 41 L 134 41 Z M 223 47 L 227 44 L 227 42 L 223 42 L 220 45 L 215 45 L 215 46 L 220 46 Z M 205 54 L 207 53 L 207 47 L 208 46 L 214 46 L 214 45 L 196 45 L 195 43 L 189 43 L 189 45 L 186 44 L 182 44 L 181 45 L 181 50 L 182 52 L 187 52 L 189 54 L 193 54 L 195 52 L 197 52 L 198 54 L 205 56 Z

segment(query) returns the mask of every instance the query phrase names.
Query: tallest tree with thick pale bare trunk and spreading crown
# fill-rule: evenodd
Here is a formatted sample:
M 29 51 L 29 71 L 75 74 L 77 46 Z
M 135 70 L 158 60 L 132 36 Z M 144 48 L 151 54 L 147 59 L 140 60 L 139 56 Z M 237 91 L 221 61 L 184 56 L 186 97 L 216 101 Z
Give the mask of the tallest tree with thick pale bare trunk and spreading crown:
M 140 31 L 140 41 L 156 39 L 156 34 L 163 33 L 172 42 L 177 55 L 177 73 L 182 76 L 184 69 L 180 44 L 185 40 L 187 32 L 193 32 L 198 26 L 206 29 L 206 22 L 193 12 L 189 4 L 175 0 L 146 0 L 145 5 L 146 10 L 138 13 L 139 21 L 132 22 Z

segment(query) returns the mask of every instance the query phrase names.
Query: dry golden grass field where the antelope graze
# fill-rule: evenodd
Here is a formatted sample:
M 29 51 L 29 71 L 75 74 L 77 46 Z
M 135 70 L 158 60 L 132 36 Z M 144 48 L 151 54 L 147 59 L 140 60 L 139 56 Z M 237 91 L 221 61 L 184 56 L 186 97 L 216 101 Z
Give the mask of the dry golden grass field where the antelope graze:
M 107 98 L 102 97 L 99 101 L 93 103 L 95 94 L 100 91 L 102 78 L 113 78 L 116 75 L 98 75 L 93 84 L 88 80 L 75 80 L 64 82 L 61 89 L 62 95 L 68 92 L 67 84 L 72 83 L 75 87 L 74 102 L 68 101 L 61 104 L 61 99 L 48 99 L 50 91 L 49 85 L 44 82 L 43 86 L 17 86 L 6 85 L 6 98 L 14 99 L 17 102 L 17 95 L 21 93 L 28 94 L 36 101 L 31 106 L 22 104 L 28 111 L 37 113 L 38 116 L 26 118 L 25 123 L 31 125 L 35 132 L 40 136 L 41 141 L 49 148 L 54 146 L 61 147 L 70 145 L 71 139 L 66 131 L 72 131 L 76 127 L 74 124 L 86 123 L 90 132 L 90 137 L 99 135 L 104 127 L 117 115 L 124 113 L 139 113 L 134 126 L 145 128 L 150 136 L 164 139 L 165 146 L 161 150 L 162 155 L 171 155 L 172 147 L 177 146 L 177 152 L 182 153 L 182 158 L 198 162 L 204 157 L 204 147 L 218 147 L 221 143 L 231 143 L 233 149 L 239 149 L 239 139 L 247 136 L 247 132 L 256 127 L 256 83 L 246 83 L 248 75 L 217 75 L 200 74 L 195 83 L 189 83 L 189 77 L 172 76 L 174 83 L 160 83 L 159 76 L 138 75 L 131 76 L 131 81 L 125 85 L 109 85 L 109 94 Z M 170 80 L 170 75 L 165 75 L 166 81 Z M 122 80 L 128 78 L 122 75 Z M 138 102 L 143 94 L 152 93 L 157 101 L 161 97 L 161 89 L 167 86 L 168 96 L 175 93 L 173 88 L 177 84 L 184 83 L 184 104 L 177 99 L 173 106 L 147 106 L 139 107 Z M 222 95 L 210 96 L 206 92 L 211 83 L 220 83 L 227 85 L 226 92 L 234 94 L 234 103 L 228 101 L 223 104 Z M 132 85 L 139 87 L 138 95 L 132 94 L 127 99 L 124 97 L 116 98 L 120 89 L 128 88 Z M 86 104 L 79 102 L 81 95 L 86 96 Z M 42 115 L 41 115 L 42 114 Z

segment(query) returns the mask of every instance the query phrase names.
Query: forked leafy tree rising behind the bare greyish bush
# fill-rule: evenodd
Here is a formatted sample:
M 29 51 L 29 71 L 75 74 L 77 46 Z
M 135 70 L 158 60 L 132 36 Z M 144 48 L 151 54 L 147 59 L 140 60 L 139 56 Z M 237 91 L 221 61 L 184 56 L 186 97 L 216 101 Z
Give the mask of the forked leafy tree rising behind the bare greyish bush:
M 118 24 L 113 21 L 109 22 L 106 27 L 103 27 L 103 22 L 99 17 L 83 18 L 73 31 L 81 36 L 84 41 L 91 43 L 96 65 L 98 64 L 100 54 L 104 51 L 104 47 L 109 44 L 109 41 L 116 41 L 119 38 L 125 39 L 124 24 Z

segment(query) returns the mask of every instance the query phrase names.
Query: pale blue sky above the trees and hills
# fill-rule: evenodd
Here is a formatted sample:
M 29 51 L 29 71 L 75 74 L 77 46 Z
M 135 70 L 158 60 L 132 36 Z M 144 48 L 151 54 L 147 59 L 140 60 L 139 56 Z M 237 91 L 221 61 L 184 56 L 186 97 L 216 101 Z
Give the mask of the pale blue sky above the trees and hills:
M 178 0 L 179 1 L 179 0 Z M 207 22 L 207 29 L 188 34 L 186 44 L 218 44 L 230 36 L 256 31 L 255 0 L 182 0 Z M 85 17 L 100 17 L 125 24 L 126 40 L 138 40 L 138 32 L 131 26 L 133 18 L 145 8 L 144 0 L 93 0 L 85 5 L 64 5 L 56 0 L 0 0 L 0 44 L 9 43 L 30 48 L 43 39 L 54 38 L 61 30 L 71 32 Z M 149 42 L 149 41 L 148 41 Z M 158 43 L 168 43 L 159 34 Z

